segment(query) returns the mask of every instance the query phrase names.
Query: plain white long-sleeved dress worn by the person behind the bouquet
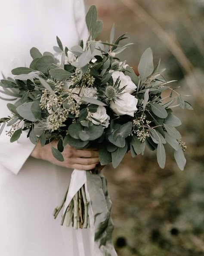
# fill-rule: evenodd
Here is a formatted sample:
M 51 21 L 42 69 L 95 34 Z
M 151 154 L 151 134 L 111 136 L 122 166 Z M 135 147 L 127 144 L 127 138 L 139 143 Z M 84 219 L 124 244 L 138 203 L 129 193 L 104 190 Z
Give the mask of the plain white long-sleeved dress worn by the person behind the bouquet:
M 9 76 L 12 68 L 28 66 L 31 47 L 53 52 L 56 35 L 68 47 L 85 39 L 84 13 L 83 0 L 3 1 L 0 71 Z M 0 100 L 0 117 L 10 114 L 6 103 Z M 61 218 L 52 215 L 72 170 L 29 157 L 33 149 L 26 134 L 14 143 L 5 133 L 0 136 L 0 256 L 90 256 L 89 230 L 62 227 Z M 83 236 L 83 252 L 78 235 Z

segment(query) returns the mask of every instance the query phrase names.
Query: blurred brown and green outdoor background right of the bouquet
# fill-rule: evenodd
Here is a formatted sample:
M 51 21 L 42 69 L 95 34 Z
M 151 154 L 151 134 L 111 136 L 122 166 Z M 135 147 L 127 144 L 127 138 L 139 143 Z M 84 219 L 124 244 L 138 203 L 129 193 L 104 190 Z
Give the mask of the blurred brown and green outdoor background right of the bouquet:
M 113 201 L 114 243 L 119 256 L 204 256 L 204 0 L 85 0 L 104 22 L 100 38 L 128 33 L 134 45 L 120 58 L 137 73 L 142 53 L 151 47 L 165 77 L 178 80 L 194 111 L 176 110 L 188 145 L 180 171 L 167 150 L 164 170 L 155 152 L 127 155 L 104 174 Z

